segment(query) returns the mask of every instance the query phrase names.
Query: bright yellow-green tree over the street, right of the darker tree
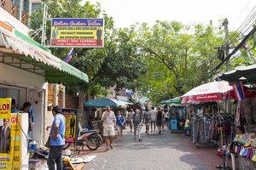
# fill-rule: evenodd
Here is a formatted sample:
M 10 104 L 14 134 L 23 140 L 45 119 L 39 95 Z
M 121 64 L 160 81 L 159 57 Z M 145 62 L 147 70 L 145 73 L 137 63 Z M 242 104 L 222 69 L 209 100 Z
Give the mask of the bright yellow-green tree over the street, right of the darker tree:
M 151 90 L 161 92 L 161 97 L 166 98 L 184 94 L 201 82 L 207 82 L 209 71 L 218 63 L 213 48 L 222 40 L 221 32 L 216 30 L 212 26 L 183 26 L 177 21 L 160 20 L 152 27 L 139 26 L 140 54 L 151 60 L 147 75 L 151 78 L 145 84 L 150 84 Z M 154 69 L 150 65 L 154 65 Z M 155 79 L 152 75 L 160 78 Z M 150 94 L 156 96 L 154 91 Z

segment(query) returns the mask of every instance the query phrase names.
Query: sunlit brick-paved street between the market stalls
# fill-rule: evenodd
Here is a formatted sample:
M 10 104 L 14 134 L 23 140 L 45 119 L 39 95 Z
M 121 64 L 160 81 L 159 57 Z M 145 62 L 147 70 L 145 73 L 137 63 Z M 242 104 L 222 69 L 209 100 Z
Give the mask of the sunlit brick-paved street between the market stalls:
M 143 126 L 145 128 L 145 126 Z M 96 151 L 86 151 L 86 155 L 96 155 L 96 159 L 87 163 L 88 170 L 206 170 L 216 169 L 221 163 L 216 156 L 216 148 L 211 144 L 196 149 L 190 137 L 181 133 L 166 132 L 142 134 L 142 142 L 133 141 L 130 129 L 126 128 L 123 142 L 115 139 L 113 150 L 105 151 L 105 144 Z

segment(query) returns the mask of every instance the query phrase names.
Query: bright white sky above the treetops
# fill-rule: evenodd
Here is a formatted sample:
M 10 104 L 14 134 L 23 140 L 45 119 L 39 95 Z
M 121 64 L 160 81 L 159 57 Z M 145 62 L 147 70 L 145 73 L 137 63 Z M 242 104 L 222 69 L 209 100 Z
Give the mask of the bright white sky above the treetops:
M 183 24 L 203 23 L 227 18 L 230 31 L 235 31 L 247 15 L 255 12 L 256 0 L 84 0 L 101 3 L 113 17 L 115 27 L 128 27 L 139 21 L 154 24 L 155 20 L 177 20 Z M 254 9 L 253 9 L 254 8 Z

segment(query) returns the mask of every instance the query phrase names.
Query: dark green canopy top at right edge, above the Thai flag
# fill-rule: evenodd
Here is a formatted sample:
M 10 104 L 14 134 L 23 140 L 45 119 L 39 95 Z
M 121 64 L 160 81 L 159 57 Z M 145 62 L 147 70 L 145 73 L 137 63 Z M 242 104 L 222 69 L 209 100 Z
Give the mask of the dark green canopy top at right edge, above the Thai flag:
M 237 67 L 233 71 L 225 72 L 219 78 L 228 82 L 240 82 L 241 80 L 255 81 L 256 65 Z

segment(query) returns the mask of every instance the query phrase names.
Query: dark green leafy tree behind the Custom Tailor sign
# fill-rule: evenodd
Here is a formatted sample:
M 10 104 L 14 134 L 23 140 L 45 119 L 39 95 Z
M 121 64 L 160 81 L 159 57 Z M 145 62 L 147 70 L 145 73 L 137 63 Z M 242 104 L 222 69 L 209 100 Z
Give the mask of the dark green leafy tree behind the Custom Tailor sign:
M 136 50 L 131 45 L 134 31 L 131 29 L 113 29 L 113 18 L 102 12 L 100 3 L 96 5 L 81 0 L 57 0 L 47 3 L 49 15 L 52 18 L 99 18 L 102 14 L 105 20 L 104 48 L 75 48 L 71 65 L 85 72 L 89 76 L 89 83 L 65 83 L 67 93 L 77 94 L 84 91 L 92 96 L 106 95 L 108 88 L 135 89 L 139 85 L 137 77 L 143 74 L 143 62 L 137 56 Z M 42 10 L 32 14 L 31 29 L 37 30 L 42 22 Z M 34 16 L 37 16 L 35 18 Z M 39 19 L 39 20 L 38 20 Z M 49 40 L 50 26 L 47 23 L 47 39 Z M 39 42 L 40 37 L 36 37 Z M 52 53 L 65 59 L 67 48 L 52 48 Z

